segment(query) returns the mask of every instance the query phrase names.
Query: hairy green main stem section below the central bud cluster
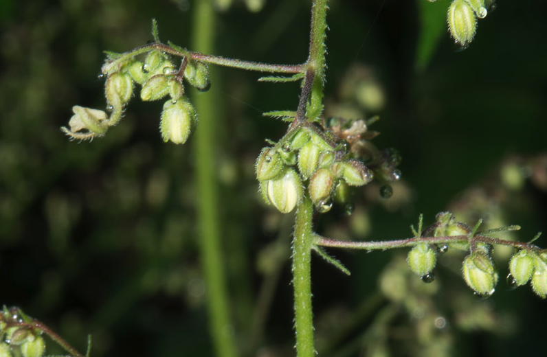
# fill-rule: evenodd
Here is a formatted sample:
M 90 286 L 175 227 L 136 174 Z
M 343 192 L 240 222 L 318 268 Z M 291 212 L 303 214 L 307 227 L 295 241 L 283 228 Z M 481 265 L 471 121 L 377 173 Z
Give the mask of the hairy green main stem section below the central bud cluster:
M 313 203 L 307 195 L 304 195 L 296 210 L 293 238 L 294 325 L 298 357 L 315 356 L 311 310 L 312 216 Z

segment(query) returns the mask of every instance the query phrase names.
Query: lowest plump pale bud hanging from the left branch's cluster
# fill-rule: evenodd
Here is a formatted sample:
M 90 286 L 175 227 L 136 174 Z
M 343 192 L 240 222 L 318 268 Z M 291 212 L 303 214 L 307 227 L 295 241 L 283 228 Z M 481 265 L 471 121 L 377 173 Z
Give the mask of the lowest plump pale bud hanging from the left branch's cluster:
M 160 130 L 165 142 L 185 143 L 196 124 L 197 114 L 190 102 L 179 100 L 173 103 L 168 100 L 164 104 Z

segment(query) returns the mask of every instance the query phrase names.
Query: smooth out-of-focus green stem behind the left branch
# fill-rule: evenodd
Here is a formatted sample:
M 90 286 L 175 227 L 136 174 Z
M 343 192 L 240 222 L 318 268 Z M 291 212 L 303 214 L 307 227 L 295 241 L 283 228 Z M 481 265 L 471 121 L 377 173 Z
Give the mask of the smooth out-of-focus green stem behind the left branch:
M 212 1 L 201 0 L 194 3 L 193 47 L 200 51 L 212 51 L 214 47 L 214 9 Z M 206 299 L 209 323 L 214 341 L 214 356 L 234 357 L 236 347 L 230 330 L 232 324 L 228 314 L 228 300 L 225 286 L 225 268 L 221 254 L 219 235 L 218 189 L 215 182 L 214 148 L 215 121 L 218 119 L 214 96 L 194 95 L 193 102 L 200 115 L 196 130 L 194 153 L 197 155 L 195 185 L 197 189 L 197 226 L 201 249 L 201 265 L 205 276 Z

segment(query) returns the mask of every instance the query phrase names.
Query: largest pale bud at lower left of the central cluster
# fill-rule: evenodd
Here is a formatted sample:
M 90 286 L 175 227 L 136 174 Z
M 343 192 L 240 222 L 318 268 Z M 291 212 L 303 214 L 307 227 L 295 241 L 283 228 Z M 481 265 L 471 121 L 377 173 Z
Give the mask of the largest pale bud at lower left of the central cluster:
M 266 183 L 270 203 L 281 213 L 288 214 L 302 198 L 302 181 L 293 169 L 286 169 Z

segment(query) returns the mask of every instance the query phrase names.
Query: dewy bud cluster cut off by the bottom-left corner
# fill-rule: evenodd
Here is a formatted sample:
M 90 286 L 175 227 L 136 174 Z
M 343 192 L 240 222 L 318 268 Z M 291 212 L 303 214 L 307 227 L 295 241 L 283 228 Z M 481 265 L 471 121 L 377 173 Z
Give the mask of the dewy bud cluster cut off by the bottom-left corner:
M 0 341 L 2 357 L 41 357 L 45 352 L 41 331 L 17 308 L 4 307 L 0 312 Z

